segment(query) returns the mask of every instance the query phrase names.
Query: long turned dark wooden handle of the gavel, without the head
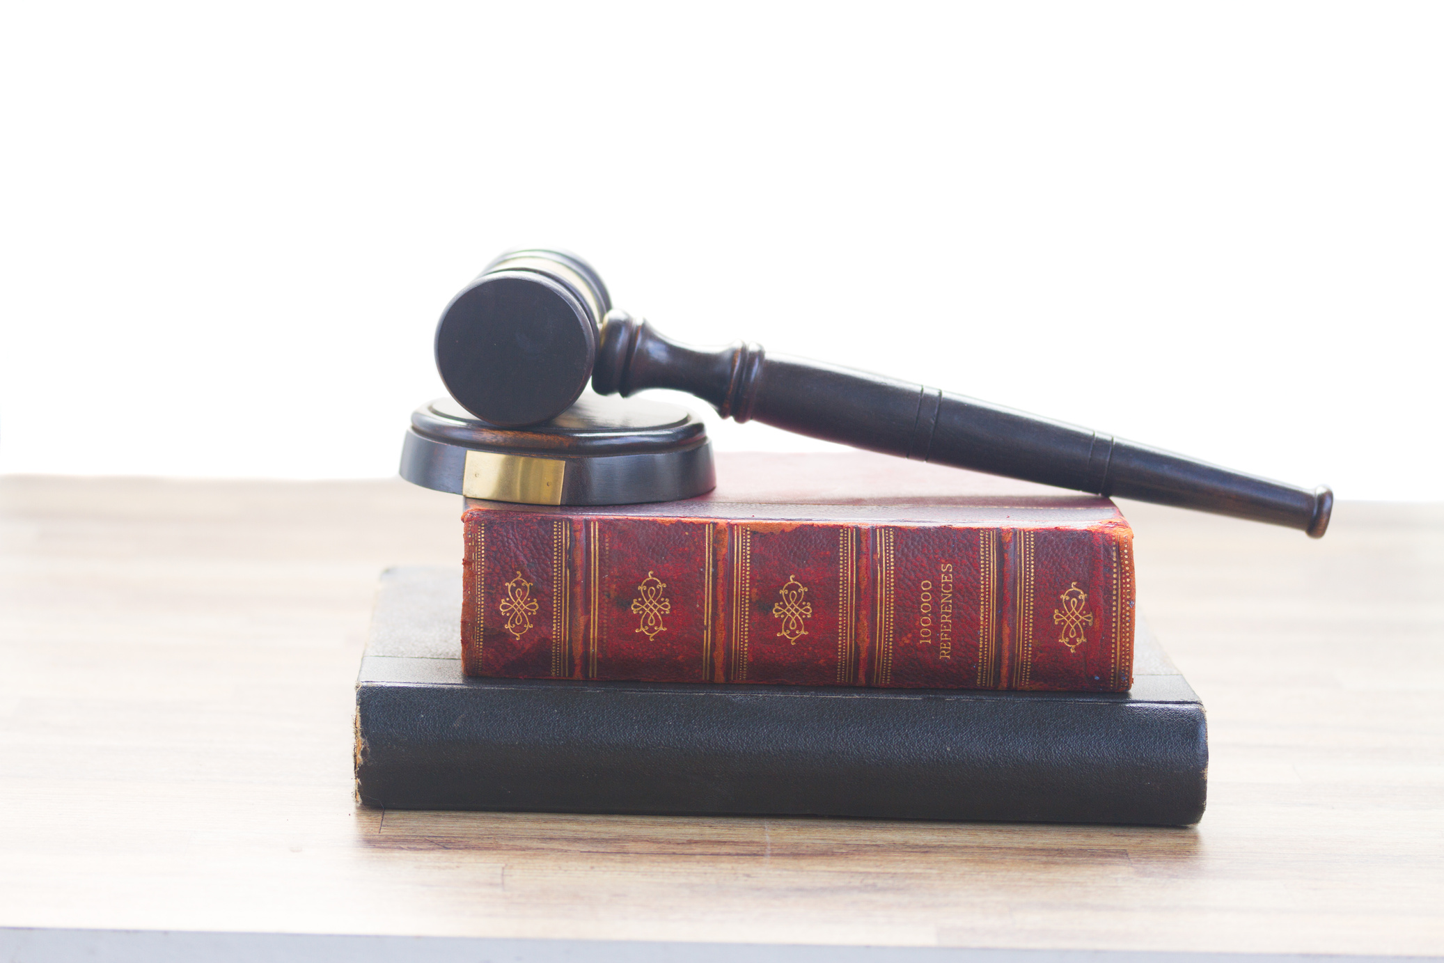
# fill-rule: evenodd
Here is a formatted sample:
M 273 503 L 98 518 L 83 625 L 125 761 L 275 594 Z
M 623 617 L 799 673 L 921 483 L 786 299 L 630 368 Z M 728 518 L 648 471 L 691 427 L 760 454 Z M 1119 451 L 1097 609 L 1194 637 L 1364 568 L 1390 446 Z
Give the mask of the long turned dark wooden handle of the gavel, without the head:
M 690 348 L 617 310 L 602 326 L 592 387 L 622 396 L 676 388 L 738 422 L 1044 485 L 1302 528 L 1314 539 L 1324 534 L 1333 510 L 1328 488 L 1307 491 L 1243 475 L 921 384 L 803 358 L 768 358 L 757 344 Z

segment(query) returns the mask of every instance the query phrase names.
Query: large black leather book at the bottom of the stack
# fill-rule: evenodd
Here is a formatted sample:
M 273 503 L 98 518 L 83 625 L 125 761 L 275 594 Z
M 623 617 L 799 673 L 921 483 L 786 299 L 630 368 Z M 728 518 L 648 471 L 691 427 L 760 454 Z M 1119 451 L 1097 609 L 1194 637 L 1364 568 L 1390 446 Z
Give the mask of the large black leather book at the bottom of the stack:
M 468 679 L 461 570 L 381 576 L 367 806 L 1145 823 L 1203 816 L 1203 705 L 1139 621 L 1134 687 L 1032 693 Z

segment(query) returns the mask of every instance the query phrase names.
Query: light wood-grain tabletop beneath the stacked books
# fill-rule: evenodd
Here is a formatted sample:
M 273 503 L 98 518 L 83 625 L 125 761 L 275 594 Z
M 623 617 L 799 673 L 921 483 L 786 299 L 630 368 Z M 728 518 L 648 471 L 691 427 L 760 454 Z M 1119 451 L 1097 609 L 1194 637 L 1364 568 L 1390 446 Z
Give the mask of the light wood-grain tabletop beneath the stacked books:
M 1444 953 L 1444 507 L 1125 513 L 1194 829 L 360 809 L 375 576 L 458 560 L 459 500 L 3 478 L 0 925 Z

